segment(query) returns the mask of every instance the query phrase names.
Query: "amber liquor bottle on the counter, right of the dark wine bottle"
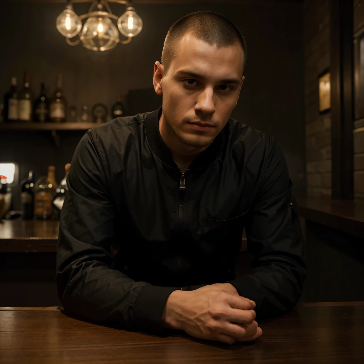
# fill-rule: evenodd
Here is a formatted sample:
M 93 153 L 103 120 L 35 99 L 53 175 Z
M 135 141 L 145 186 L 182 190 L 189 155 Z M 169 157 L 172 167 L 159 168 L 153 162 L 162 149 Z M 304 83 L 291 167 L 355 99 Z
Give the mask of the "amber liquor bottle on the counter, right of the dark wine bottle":
M 34 217 L 36 219 L 52 218 L 52 201 L 56 192 L 54 171 L 55 167 L 49 166 L 48 176 L 41 176 L 35 185 Z

